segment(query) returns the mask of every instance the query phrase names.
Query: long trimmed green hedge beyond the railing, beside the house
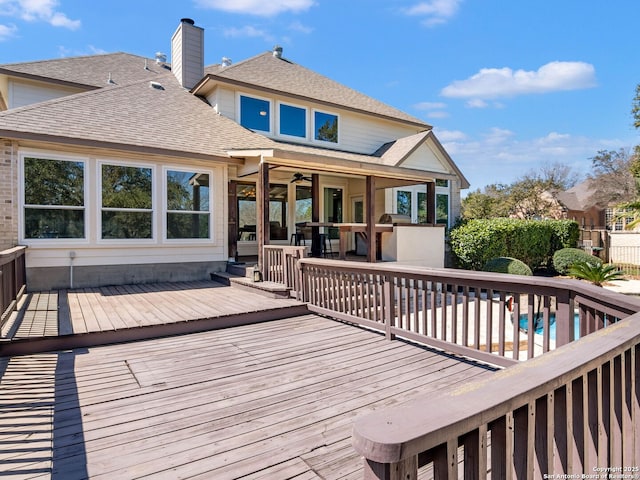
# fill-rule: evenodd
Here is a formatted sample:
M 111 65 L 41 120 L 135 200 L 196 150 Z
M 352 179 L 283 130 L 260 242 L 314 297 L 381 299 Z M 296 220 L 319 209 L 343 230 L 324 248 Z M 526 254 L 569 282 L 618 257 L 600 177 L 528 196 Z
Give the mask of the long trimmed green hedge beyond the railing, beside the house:
M 492 258 L 511 257 L 535 270 L 553 253 L 575 247 L 579 226 L 572 220 L 475 219 L 454 227 L 449 244 L 456 266 L 481 270 Z

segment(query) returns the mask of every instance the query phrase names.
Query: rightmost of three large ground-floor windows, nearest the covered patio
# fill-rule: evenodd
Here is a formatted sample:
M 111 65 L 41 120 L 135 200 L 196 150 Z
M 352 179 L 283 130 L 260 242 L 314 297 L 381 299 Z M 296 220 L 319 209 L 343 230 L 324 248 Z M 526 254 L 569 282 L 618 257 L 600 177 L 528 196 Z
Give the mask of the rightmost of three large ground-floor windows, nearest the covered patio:
M 167 171 L 167 238 L 210 238 L 208 173 Z

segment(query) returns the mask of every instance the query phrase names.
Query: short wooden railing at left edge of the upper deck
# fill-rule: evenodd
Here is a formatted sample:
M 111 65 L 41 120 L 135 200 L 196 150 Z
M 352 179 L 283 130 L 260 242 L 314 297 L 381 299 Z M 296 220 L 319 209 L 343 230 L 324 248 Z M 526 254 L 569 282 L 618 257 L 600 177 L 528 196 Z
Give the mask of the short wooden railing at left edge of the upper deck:
M 26 247 L 0 252 L 0 327 L 15 310 L 26 288 L 24 254 Z

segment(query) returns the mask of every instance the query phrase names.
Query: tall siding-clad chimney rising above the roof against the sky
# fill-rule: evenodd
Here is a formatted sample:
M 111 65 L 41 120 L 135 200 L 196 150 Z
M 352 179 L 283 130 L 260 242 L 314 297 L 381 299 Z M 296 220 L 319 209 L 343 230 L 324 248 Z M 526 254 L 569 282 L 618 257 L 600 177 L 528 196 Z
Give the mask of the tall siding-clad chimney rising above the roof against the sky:
M 184 88 L 193 88 L 204 77 L 204 29 L 190 18 L 180 20 L 171 37 L 171 71 Z

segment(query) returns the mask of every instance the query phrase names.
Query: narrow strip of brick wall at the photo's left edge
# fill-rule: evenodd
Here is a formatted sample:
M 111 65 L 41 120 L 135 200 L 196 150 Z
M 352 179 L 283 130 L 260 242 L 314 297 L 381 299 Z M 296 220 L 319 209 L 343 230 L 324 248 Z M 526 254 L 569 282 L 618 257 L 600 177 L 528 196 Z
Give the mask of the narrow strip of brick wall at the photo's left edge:
M 0 140 L 0 250 L 18 244 L 18 146 Z

